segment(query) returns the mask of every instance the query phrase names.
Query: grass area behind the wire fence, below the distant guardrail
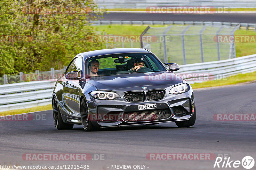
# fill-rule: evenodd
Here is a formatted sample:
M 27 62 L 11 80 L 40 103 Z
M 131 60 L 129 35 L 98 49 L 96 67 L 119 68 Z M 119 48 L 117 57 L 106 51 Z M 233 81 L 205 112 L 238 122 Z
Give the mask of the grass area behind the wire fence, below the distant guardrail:
M 97 25 L 94 26 L 99 32 L 106 32 L 107 34 L 110 35 L 140 35 L 148 25 L 118 25 L 118 24 L 113 24 L 113 25 Z M 151 25 L 152 27 L 163 27 L 163 26 L 168 26 L 168 25 Z M 184 27 L 186 26 L 180 26 L 180 30 L 183 30 Z M 179 28 L 174 28 L 172 27 L 173 32 L 179 33 L 180 30 Z M 196 30 L 198 28 L 196 27 L 190 27 L 187 33 L 193 34 L 194 32 L 198 32 Z M 214 32 L 215 28 L 212 28 L 210 30 L 205 30 L 204 33 L 210 33 Z M 216 32 L 217 32 L 216 28 Z M 150 32 L 149 34 L 150 35 Z M 152 34 L 151 34 L 152 35 Z M 255 35 L 256 32 L 254 30 L 236 30 L 235 35 Z M 216 42 L 213 41 L 213 36 L 214 35 L 203 35 L 203 42 L 207 42 L 208 46 L 204 46 L 204 62 L 207 61 L 212 61 L 214 58 L 217 60 L 217 49 L 212 48 L 212 46 L 216 46 Z M 185 36 L 185 39 L 193 39 L 193 41 L 188 41 L 189 43 L 185 43 L 186 47 L 186 57 L 188 60 L 191 60 L 195 63 L 196 62 L 201 62 L 200 57 L 195 58 L 195 53 L 200 55 L 200 49 L 199 47 L 199 36 L 194 36 L 194 35 L 189 35 Z M 177 43 L 179 42 L 179 43 Z M 245 42 L 236 42 L 236 57 L 241 57 L 245 55 L 250 55 L 250 54 L 255 54 L 256 53 L 256 48 L 255 48 L 256 43 L 245 43 Z M 153 53 L 155 53 L 161 60 L 164 60 L 163 58 L 163 44 L 158 43 L 155 45 L 152 45 L 154 49 L 151 49 Z M 111 47 L 116 47 L 116 48 L 121 48 L 122 43 L 108 43 L 108 48 Z M 124 43 L 124 47 L 131 47 L 131 43 Z M 140 48 L 140 43 L 136 42 L 133 43 L 133 47 Z M 224 48 L 229 48 L 229 43 L 220 43 L 220 51 Z M 180 44 L 180 36 L 172 36 L 172 41 L 167 44 L 167 52 L 168 53 L 168 58 L 169 60 L 173 60 L 177 62 L 178 64 L 183 64 L 182 61 L 182 50 L 181 49 L 181 44 Z M 245 50 L 244 50 L 245 49 Z M 170 53 L 172 52 L 172 53 Z M 227 54 L 221 54 L 221 59 L 228 59 Z M 188 63 L 189 64 L 189 63 Z

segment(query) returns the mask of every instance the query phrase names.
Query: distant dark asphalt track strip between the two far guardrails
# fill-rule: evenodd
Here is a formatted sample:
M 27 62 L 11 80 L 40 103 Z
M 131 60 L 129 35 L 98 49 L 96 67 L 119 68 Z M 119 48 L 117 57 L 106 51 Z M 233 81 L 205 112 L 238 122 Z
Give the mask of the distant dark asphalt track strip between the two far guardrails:
M 134 20 L 134 21 L 223 21 L 256 23 L 256 13 L 208 13 L 208 14 L 179 14 L 179 13 L 125 13 L 110 12 L 103 14 L 101 20 Z

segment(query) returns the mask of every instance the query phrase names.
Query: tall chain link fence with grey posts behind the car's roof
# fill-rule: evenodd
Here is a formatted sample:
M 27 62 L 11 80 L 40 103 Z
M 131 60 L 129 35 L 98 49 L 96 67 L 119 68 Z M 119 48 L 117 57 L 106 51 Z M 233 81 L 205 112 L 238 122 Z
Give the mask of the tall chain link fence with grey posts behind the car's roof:
M 239 26 L 170 25 L 148 26 L 141 34 L 141 47 L 164 62 L 192 64 L 236 57 L 235 42 L 220 43 L 219 36 L 234 36 Z M 151 40 L 148 39 L 151 37 Z

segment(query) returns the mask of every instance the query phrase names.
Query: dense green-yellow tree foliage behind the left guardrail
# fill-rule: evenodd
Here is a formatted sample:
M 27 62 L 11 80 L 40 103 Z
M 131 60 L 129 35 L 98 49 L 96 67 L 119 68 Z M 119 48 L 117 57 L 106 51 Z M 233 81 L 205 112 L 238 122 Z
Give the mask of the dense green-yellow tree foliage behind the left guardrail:
M 102 15 L 93 0 L 1 0 L 0 76 L 63 68 L 92 42 L 88 23 Z

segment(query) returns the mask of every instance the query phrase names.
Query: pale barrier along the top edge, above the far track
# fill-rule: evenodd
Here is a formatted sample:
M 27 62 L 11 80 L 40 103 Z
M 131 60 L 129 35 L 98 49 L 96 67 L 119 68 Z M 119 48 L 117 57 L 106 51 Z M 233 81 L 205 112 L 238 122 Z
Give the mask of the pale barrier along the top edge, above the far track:
M 114 8 L 139 8 L 148 6 L 221 6 L 229 8 L 255 8 L 256 0 L 96 0 L 98 7 Z

